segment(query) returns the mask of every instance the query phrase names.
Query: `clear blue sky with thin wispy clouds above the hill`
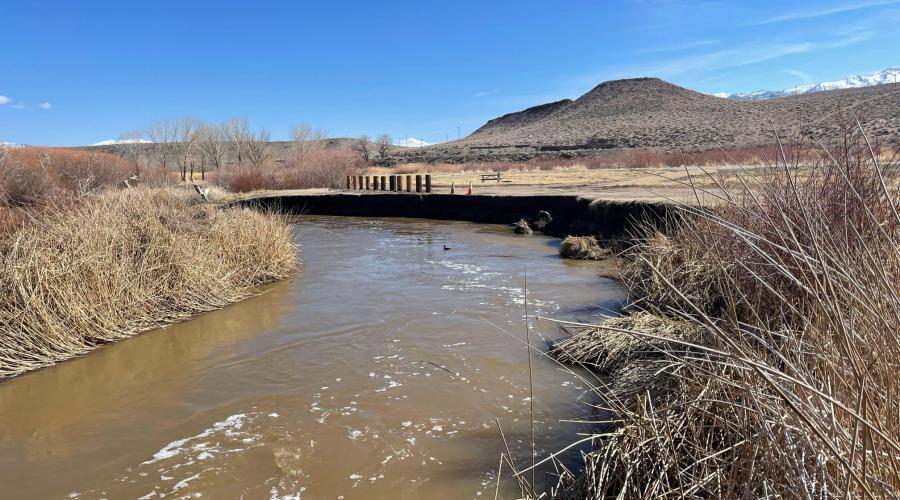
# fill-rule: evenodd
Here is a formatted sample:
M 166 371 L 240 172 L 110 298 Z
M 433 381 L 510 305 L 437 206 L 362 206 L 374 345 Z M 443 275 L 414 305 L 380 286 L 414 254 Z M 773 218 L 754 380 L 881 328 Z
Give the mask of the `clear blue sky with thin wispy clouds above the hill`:
M 15 0 L 0 6 L 0 141 L 82 145 L 161 118 L 273 138 L 429 142 L 598 83 L 778 89 L 900 65 L 900 0 Z

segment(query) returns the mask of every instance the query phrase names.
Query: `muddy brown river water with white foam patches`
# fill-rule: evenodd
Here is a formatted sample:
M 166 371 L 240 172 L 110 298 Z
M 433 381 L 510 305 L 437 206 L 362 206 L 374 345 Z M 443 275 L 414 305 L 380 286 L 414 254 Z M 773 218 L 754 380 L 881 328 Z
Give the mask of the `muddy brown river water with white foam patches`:
M 524 337 L 526 266 L 529 315 L 591 320 L 624 298 L 603 264 L 507 227 L 295 228 L 296 277 L 0 383 L 0 498 L 493 498 L 495 419 L 530 463 L 527 351 L 501 331 Z M 564 335 L 531 323 L 541 350 Z M 542 458 L 587 430 L 571 420 L 593 398 L 540 355 L 533 372 Z M 500 496 L 517 495 L 504 467 Z

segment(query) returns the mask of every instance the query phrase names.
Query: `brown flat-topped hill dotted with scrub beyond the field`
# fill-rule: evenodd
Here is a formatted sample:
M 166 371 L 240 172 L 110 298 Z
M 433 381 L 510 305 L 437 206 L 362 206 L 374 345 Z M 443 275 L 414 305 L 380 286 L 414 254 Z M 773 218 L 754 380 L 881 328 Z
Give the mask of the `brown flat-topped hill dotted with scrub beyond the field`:
M 459 141 L 400 152 L 405 161 L 525 160 L 587 156 L 609 149 L 698 151 L 836 137 L 859 119 L 873 136 L 900 137 L 900 84 L 760 101 L 695 92 L 657 78 L 602 83 L 563 100 L 488 121 Z

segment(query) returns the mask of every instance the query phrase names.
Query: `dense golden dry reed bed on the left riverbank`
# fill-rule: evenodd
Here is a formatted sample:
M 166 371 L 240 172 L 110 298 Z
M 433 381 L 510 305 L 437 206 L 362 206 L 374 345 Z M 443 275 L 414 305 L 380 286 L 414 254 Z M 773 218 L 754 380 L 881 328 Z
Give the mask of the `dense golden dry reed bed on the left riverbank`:
M 220 308 L 297 268 L 288 224 L 135 189 L 0 237 L 0 378 Z

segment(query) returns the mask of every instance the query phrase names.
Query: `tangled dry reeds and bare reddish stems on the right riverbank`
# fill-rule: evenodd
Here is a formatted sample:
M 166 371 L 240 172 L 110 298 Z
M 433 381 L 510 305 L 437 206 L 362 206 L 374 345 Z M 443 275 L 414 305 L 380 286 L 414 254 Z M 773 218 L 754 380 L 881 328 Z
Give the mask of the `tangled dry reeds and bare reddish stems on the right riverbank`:
M 631 313 L 557 346 L 605 372 L 579 498 L 900 495 L 898 165 L 784 158 L 631 253 Z

